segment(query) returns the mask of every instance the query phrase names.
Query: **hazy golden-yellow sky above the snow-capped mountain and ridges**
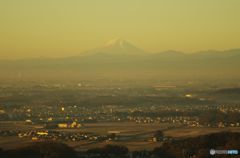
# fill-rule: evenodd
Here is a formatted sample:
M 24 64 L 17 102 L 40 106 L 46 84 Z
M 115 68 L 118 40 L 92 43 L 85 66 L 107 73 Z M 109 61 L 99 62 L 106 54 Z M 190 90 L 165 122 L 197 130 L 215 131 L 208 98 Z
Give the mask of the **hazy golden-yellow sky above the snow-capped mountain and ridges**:
M 240 48 L 240 0 L 0 0 L 0 58 L 69 56 L 118 37 L 152 52 Z

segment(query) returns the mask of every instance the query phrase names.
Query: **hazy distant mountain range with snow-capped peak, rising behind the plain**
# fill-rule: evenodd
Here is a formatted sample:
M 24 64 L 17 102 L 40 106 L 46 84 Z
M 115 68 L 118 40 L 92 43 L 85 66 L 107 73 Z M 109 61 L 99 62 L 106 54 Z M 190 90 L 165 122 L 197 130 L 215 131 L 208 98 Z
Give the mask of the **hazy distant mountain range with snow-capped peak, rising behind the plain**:
M 1 73 L 51 72 L 159 77 L 239 77 L 240 49 L 208 50 L 196 53 L 165 51 L 149 53 L 130 42 L 115 39 L 103 47 L 82 52 L 77 56 L 56 59 L 2 60 Z M 48 74 L 49 75 L 49 74 Z M 53 74 L 50 74 L 53 75 Z M 14 76 L 14 75 L 13 75 Z M 57 75 L 56 75 L 57 76 Z

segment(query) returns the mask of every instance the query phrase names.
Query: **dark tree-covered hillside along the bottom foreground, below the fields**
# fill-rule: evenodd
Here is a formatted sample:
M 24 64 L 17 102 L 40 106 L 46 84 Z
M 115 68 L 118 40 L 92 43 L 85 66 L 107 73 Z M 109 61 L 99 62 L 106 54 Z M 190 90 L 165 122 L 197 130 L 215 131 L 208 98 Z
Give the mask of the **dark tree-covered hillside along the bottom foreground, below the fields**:
M 164 143 L 153 151 L 129 152 L 126 147 L 107 145 L 103 148 L 77 152 L 65 144 L 39 142 L 15 150 L 0 150 L 1 158 L 208 158 L 210 149 L 240 148 L 240 133 L 222 132 Z M 230 157 L 215 155 L 214 157 Z M 235 155 L 235 158 L 239 155 Z

